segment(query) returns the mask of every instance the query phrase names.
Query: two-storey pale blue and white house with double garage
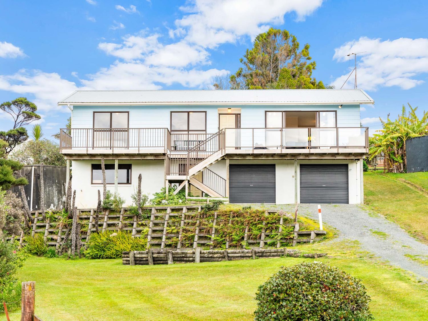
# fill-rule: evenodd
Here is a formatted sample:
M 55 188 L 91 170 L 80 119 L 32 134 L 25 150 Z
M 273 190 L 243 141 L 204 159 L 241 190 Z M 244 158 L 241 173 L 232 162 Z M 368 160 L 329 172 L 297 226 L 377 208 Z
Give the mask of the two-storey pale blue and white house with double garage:
M 78 208 L 175 184 L 231 203 L 363 202 L 368 129 L 360 89 L 76 91 L 60 146 Z M 69 163 L 69 162 L 68 162 Z

